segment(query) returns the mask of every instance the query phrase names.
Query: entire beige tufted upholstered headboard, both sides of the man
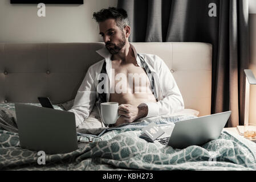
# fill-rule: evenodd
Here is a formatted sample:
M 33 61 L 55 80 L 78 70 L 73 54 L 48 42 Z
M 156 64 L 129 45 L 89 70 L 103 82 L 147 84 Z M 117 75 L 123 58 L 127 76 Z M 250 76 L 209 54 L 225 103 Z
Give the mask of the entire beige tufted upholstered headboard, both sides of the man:
M 133 43 L 137 52 L 156 54 L 176 79 L 185 108 L 210 114 L 212 45 Z M 102 59 L 104 43 L 0 43 L 0 102 L 54 104 L 72 100 L 90 65 Z

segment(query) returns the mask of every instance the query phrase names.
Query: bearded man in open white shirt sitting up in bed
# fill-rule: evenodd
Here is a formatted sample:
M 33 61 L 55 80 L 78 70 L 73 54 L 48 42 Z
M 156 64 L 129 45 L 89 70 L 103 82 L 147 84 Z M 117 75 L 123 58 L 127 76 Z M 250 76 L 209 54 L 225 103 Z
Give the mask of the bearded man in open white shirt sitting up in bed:
M 99 114 L 101 102 L 119 103 L 121 116 L 115 126 L 184 109 L 180 90 L 164 61 L 156 55 L 137 53 L 129 43 L 131 27 L 126 11 L 109 7 L 94 13 L 94 18 L 105 43 L 96 52 L 104 60 L 88 69 L 75 97 L 70 111 L 75 113 L 76 127 L 88 118 L 95 103 Z M 104 93 L 99 92 L 100 73 L 109 79 Z M 108 83 L 108 79 L 104 81 Z

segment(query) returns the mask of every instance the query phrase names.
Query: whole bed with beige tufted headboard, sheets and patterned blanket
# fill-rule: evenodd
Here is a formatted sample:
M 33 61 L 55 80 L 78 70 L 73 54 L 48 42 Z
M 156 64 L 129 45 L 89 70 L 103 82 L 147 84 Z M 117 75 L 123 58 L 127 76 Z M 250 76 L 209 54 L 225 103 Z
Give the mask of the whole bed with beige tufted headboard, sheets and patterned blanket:
M 133 45 L 137 52 L 156 54 L 165 61 L 184 98 L 184 112 L 113 128 L 87 129 L 81 125 L 78 138 L 98 136 L 101 140 L 68 154 L 47 155 L 46 164 L 39 165 L 36 151 L 19 146 L 14 103 L 40 106 L 37 97 L 46 96 L 55 109 L 70 109 L 88 67 L 102 59 L 95 51 L 104 44 L 0 43 L 0 169 L 256 170 L 256 144 L 228 131 L 222 131 L 216 140 L 182 150 L 139 138 L 141 129 L 150 122 L 164 127 L 210 114 L 212 45 Z M 88 122 L 97 119 L 99 115 L 93 110 Z

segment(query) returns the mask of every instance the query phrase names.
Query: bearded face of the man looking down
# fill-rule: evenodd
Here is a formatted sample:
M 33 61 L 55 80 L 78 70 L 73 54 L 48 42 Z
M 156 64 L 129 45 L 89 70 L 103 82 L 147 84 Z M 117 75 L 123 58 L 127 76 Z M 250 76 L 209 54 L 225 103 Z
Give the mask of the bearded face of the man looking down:
M 99 27 L 100 35 L 108 51 L 112 55 L 119 53 L 127 40 L 124 32 L 116 25 L 115 19 L 107 19 L 104 22 L 100 22 Z

